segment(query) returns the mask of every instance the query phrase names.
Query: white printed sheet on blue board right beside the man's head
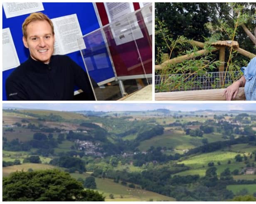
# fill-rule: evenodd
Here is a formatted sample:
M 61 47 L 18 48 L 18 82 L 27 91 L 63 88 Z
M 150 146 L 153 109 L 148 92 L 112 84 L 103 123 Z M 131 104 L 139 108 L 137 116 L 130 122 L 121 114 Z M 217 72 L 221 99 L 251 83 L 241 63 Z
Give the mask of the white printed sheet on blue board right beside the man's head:
M 52 19 L 55 33 L 54 55 L 66 55 L 81 49 L 85 49 L 84 42 L 77 43 L 82 38 L 81 28 L 76 14 Z

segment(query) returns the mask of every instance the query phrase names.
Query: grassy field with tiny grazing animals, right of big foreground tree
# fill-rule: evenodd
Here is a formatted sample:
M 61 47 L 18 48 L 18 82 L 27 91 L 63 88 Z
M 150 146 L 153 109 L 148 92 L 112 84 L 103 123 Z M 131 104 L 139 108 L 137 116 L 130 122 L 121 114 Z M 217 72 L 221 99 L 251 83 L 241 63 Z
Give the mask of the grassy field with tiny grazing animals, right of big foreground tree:
M 71 176 L 76 179 L 85 179 L 89 176 L 89 174 L 72 173 Z M 129 188 L 127 186 L 115 183 L 111 179 L 95 178 L 95 181 L 97 185 L 96 190 L 103 193 L 103 195 L 106 197 L 106 201 L 175 201 L 175 199 L 172 197 L 167 197 L 146 190 Z M 113 194 L 114 199 L 110 199 L 109 194 Z

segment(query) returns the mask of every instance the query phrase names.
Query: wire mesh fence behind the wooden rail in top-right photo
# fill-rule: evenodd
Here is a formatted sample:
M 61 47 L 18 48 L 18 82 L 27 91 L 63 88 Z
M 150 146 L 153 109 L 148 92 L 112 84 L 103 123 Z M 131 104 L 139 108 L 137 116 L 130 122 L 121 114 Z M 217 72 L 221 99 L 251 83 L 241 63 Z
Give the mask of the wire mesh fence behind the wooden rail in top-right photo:
M 155 75 L 155 92 L 219 89 L 233 83 L 241 72 Z M 223 85 L 224 84 L 224 85 Z

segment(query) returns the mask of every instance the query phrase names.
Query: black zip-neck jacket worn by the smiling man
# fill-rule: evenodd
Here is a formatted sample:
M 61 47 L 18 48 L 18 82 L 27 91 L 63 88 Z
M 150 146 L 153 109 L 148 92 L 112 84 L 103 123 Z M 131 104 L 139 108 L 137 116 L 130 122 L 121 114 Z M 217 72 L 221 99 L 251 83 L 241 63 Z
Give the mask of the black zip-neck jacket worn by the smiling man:
M 48 65 L 29 57 L 5 82 L 7 100 L 73 100 L 75 86 L 95 100 L 87 73 L 65 55 L 52 55 Z

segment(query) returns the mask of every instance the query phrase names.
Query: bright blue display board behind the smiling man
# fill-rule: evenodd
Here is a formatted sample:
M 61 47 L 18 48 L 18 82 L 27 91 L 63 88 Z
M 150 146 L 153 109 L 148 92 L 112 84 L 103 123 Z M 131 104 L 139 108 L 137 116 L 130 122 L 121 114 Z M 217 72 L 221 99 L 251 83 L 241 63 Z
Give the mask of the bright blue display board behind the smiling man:
M 44 11 L 42 12 L 44 14 L 47 14 L 50 19 L 70 14 L 76 14 L 81 27 L 82 35 L 88 34 L 91 31 L 94 31 L 100 27 L 92 3 L 43 3 L 43 6 Z M 22 43 L 22 23 L 27 16 L 29 16 L 29 14 L 7 19 L 5 17 L 5 12 L 2 9 L 2 28 L 10 28 L 20 63 L 25 62 L 29 56 L 28 49 L 25 48 Z M 85 70 L 84 62 L 80 51 L 69 53 L 67 55 Z M 104 74 L 101 74 L 101 70 L 98 70 L 98 74 L 94 74 L 94 76 L 92 76 L 97 83 L 114 77 L 113 68 L 111 66 L 109 56 L 107 56 L 107 61 L 109 65 L 107 69 L 108 71 L 104 72 Z M 95 65 L 94 67 L 97 66 Z M 13 70 L 14 69 L 10 69 L 2 72 L 3 100 L 6 100 L 5 80 Z

